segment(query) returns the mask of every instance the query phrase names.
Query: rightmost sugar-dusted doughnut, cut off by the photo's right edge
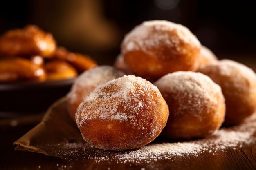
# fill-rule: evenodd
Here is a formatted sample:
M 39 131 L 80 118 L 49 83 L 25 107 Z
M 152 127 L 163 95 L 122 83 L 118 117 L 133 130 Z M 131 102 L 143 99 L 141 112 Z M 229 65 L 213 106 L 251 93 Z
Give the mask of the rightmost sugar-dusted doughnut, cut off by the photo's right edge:
M 225 125 L 240 124 L 256 111 L 256 75 L 232 60 L 220 60 L 199 70 L 219 84 L 226 99 Z

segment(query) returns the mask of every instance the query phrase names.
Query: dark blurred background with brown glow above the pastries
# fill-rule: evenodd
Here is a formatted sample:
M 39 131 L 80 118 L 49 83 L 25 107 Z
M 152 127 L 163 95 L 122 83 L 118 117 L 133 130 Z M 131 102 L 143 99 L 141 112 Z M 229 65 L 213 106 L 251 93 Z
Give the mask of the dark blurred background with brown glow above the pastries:
M 255 16 L 252 0 L 8 0 L 0 5 L 0 34 L 36 24 L 58 45 L 112 64 L 134 26 L 169 20 L 191 29 L 217 57 L 250 64 L 256 56 Z

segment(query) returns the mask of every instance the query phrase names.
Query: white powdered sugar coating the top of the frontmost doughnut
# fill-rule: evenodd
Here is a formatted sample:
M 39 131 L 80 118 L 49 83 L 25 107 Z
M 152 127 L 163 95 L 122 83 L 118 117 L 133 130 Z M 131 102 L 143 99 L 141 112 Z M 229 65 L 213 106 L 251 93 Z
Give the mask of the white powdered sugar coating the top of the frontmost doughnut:
M 145 102 L 150 102 L 149 99 L 154 98 L 152 93 L 156 97 L 161 96 L 157 87 L 145 79 L 124 75 L 99 86 L 86 96 L 77 109 L 76 122 L 81 126 L 90 119 L 134 121 L 142 109 L 146 115 L 151 114 L 146 109 L 150 104 Z M 146 100 L 145 96 L 149 99 Z M 124 108 L 119 109 L 120 106 Z

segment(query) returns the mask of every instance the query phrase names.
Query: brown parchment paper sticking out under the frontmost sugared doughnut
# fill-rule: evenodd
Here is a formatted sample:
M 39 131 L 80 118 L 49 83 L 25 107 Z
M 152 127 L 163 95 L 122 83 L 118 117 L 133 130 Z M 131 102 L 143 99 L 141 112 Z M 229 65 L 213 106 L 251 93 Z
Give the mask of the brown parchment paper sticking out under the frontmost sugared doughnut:
M 112 157 L 116 162 L 120 153 L 101 150 L 85 142 L 76 123 L 67 112 L 67 99 L 63 97 L 48 110 L 42 121 L 14 142 L 16 150 L 43 153 L 61 159 L 83 159 L 98 161 L 101 157 Z M 132 152 L 132 151 L 128 151 Z

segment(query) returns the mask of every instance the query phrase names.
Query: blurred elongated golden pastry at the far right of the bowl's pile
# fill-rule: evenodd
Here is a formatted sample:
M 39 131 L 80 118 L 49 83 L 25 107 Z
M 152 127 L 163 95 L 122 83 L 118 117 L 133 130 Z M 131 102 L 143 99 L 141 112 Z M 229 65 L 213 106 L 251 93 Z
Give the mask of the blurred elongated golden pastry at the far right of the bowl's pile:
M 81 55 L 79 53 L 71 53 L 67 51 L 67 49 L 60 47 L 55 53 L 54 57 L 58 60 L 65 60 L 69 62 L 72 66 L 74 66 L 79 73 L 82 73 L 85 70 L 90 68 L 94 68 L 97 66 L 97 63 L 92 60 L 90 57 Z

